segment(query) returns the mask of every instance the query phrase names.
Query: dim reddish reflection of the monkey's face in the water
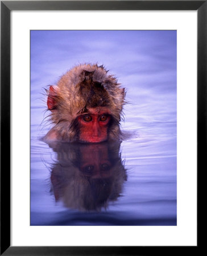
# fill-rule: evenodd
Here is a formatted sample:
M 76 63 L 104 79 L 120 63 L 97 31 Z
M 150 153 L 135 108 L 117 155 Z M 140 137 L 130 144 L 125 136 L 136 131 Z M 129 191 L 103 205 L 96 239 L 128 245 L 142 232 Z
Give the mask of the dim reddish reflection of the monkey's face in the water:
M 91 146 L 91 147 L 90 147 Z M 90 176 L 96 178 L 106 178 L 110 176 L 111 163 L 109 162 L 109 156 L 107 147 L 99 144 L 96 147 L 90 145 L 87 150 L 82 148 L 80 171 L 84 173 L 84 176 Z

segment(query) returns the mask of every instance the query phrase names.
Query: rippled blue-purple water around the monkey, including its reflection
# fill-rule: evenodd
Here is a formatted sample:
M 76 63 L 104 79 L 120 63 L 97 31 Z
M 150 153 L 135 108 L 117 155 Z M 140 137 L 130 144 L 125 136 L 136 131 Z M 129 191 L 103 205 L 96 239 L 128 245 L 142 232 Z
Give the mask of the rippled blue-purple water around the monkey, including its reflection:
M 43 88 L 79 63 L 127 89 L 126 141 L 40 140 Z M 31 31 L 31 225 L 176 225 L 176 180 L 176 31 Z

